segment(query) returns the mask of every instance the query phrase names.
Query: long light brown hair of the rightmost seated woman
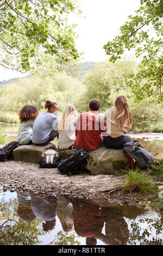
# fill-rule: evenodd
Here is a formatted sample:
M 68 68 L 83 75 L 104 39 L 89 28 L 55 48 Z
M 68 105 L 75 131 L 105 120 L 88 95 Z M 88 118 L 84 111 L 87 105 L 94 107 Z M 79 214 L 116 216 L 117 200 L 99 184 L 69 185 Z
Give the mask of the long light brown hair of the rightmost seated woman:
M 129 129 L 129 127 L 133 124 L 133 115 L 130 111 L 126 97 L 118 96 L 115 100 L 115 107 L 117 109 L 114 119 L 116 125 L 121 129 L 124 129 L 124 127 Z

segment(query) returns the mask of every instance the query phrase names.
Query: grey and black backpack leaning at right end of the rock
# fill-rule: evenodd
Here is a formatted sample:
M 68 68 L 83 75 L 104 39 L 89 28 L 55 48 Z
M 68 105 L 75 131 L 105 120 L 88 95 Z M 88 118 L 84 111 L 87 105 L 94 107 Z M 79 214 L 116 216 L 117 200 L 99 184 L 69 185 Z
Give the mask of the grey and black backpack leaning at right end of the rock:
M 154 162 L 154 155 L 141 147 L 139 141 L 130 141 L 125 143 L 123 145 L 123 152 L 129 157 L 130 163 L 130 157 L 132 157 L 135 160 L 137 166 L 141 169 L 146 169 L 149 164 Z M 132 163 L 131 169 L 134 169 Z

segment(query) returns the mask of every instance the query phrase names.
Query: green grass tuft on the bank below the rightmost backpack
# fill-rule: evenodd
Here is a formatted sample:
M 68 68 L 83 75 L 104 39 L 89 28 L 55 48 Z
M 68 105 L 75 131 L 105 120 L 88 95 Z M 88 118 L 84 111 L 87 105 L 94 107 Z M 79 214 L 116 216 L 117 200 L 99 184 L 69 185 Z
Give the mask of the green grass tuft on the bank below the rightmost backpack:
M 140 194 L 155 193 L 158 191 L 156 185 L 151 184 L 148 174 L 140 172 L 138 169 L 124 175 L 125 182 L 122 185 L 122 191 L 126 193 L 139 192 Z

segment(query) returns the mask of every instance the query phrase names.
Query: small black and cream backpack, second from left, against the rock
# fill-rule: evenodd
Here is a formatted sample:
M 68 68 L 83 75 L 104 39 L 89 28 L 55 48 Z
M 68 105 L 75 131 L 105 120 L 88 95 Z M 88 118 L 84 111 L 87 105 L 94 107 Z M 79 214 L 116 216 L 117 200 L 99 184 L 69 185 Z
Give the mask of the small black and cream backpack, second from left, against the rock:
M 59 164 L 59 153 L 54 148 L 48 148 L 42 153 L 39 161 L 40 168 L 57 168 Z

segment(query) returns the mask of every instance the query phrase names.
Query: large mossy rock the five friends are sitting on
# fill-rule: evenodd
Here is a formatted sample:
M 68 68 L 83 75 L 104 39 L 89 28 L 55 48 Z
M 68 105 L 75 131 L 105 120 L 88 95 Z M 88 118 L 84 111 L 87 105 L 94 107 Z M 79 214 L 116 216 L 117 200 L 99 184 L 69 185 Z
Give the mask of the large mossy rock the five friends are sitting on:
M 4 147 L 4 145 L 2 145 L 2 147 Z M 55 145 L 53 143 L 49 143 L 46 146 L 22 145 L 14 149 L 12 151 L 12 155 L 16 161 L 38 163 L 42 152 L 49 147 L 55 148 Z M 59 153 L 59 159 L 60 161 L 65 160 L 74 153 L 76 153 L 76 151 L 72 149 L 61 150 Z M 120 172 L 121 169 L 128 167 L 130 164 L 127 156 L 123 153 L 123 149 L 95 149 L 89 153 L 87 160 L 88 163 L 86 164 L 85 169 L 94 175 L 112 175 L 117 171 Z

